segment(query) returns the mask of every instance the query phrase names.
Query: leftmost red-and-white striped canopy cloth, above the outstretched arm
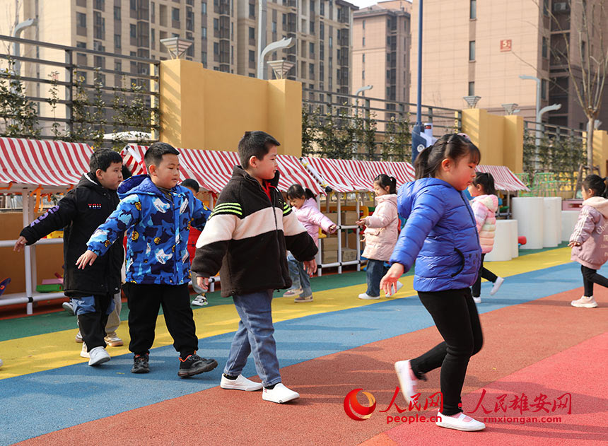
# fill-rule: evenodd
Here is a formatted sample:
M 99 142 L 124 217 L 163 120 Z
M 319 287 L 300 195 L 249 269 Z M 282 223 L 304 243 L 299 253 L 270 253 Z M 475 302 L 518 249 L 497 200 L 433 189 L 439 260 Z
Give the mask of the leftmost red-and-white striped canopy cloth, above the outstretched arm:
M 88 172 L 85 143 L 0 138 L 0 187 L 65 189 Z

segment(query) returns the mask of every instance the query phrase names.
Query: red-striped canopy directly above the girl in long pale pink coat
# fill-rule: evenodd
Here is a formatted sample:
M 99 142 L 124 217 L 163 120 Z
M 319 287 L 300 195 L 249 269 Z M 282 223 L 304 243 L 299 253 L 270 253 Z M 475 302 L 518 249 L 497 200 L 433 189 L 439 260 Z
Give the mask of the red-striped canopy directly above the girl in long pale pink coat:
M 414 181 L 414 168 L 405 162 L 333 160 L 305 157 L 300 162 L 322 186 L 335 192 L 373 190 L 373 180 L 381 173 L 395 177 L 397 187 Z

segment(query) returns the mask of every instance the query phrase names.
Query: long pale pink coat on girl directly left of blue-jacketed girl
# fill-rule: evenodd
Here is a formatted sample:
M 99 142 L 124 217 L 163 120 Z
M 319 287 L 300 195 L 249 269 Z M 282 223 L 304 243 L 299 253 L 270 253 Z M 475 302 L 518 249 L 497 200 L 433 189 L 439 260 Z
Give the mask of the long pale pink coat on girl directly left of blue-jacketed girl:
M 366 249 L 363 257 L 388 262 L 397 244 L 399 216 L 397 216 L 397 194 L 376 196 L 378 206 L 374 213 L 363 218 L 366 235 Z

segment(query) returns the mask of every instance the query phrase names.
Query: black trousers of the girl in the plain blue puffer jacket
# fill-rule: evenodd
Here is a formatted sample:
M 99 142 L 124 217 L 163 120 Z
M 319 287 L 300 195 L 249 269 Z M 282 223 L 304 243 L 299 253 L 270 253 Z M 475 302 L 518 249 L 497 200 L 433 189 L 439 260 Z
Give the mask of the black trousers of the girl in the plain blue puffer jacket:
M 442 413 L 454 415 L 462 411 L 460 392 L 469 358 L 481 350 L 484 343 L 477 306 L 471 288 L 435 293 L 419 291 L 418 295 L 444 341 L 412 359 L 411 369 L 417 377 L 422 377 L 426 372 L 441 368 Z

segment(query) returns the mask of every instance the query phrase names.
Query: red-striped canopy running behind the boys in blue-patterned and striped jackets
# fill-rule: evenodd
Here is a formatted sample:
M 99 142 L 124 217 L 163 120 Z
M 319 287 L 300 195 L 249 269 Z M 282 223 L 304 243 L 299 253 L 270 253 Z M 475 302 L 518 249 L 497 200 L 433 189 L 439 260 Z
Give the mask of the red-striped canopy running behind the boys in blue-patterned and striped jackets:
M 129 145 L 122 151 L 124 164 L 134 175 L 146 173 L 144 153 L 148 147 Z M 238 153 L 228 151 L 206 151 L 180 148 L 180 180 L 192 178 L 211 192 L 221 192 L 232 177 L 233 167 L 240 164 Z M 291 184 L 308 187 L 315 194 L 322 193 L 319 184 L 292 155 L 279 155 L 279 190 L 286 191 Z

